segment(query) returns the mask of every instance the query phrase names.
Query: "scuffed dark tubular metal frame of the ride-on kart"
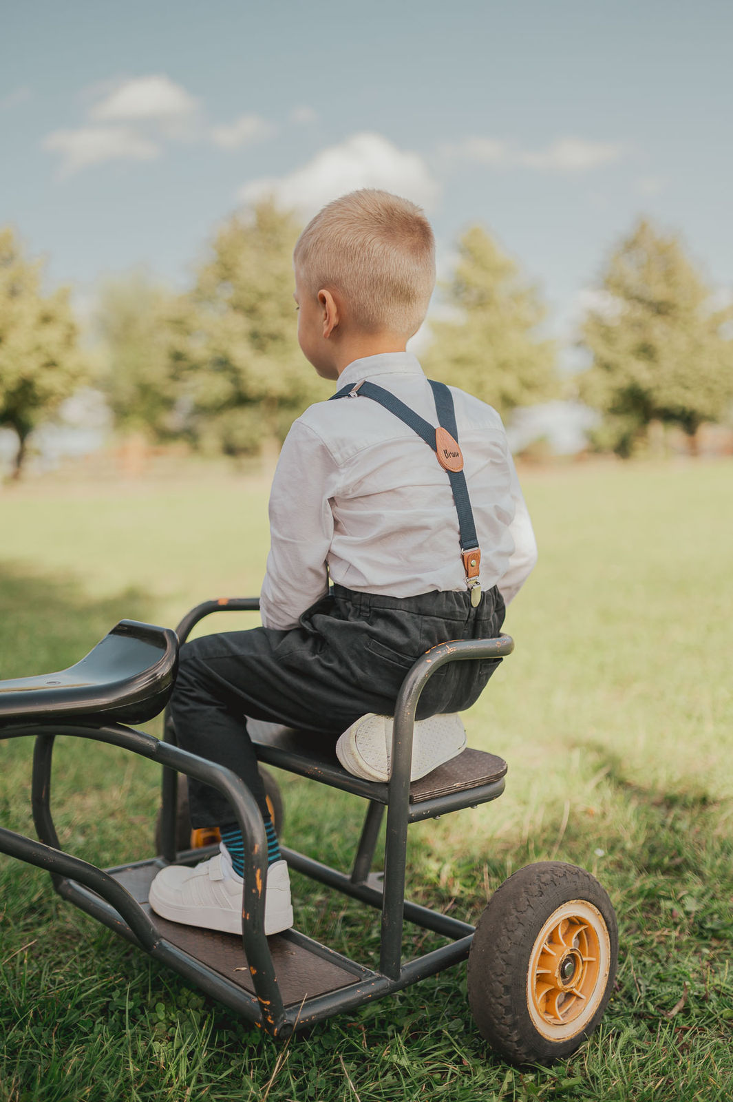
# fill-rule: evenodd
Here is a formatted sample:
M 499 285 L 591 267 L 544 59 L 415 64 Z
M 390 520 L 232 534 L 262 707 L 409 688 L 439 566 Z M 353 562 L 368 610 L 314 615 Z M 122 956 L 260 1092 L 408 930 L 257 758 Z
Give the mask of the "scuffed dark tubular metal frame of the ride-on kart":
M 193 608 L 180 622 L 177 634 L 183 642 L 193 627 L 215 612 L 255 612 L 259 598 L 242 597 L 209 601 Z M 260 756 L 269 764 L 313 776 L 336 785 L 369 800 L 364 825 L 350 875 L 322 865 L 311 857 L 283 847 L 283 856 L 298 872 L 320 883 L 359 899 L 382 911 L 381 952 L 379 970 L 372 971 L 311 941 L 295 930 L 283 937 L 307 948 L 324 959 L 330 959 L 354 976 L 354 982 L 337 991 L 306 997 L 299 1006 L 285 1006 L 275 976 L 272 955 L 264 934 L 264 895 L 266 868 L 263 854 L 266 841 L 262 818 L 254 798 L 243 781 L 229 769 L 207 761 L 175 745 L 175 732 L 166 711 L 163 742 L 141 731 L 120 723 L 96 724 L 89 716 L 86 722 L 22 723 L 0 727 L 0 738 L 35 737 L 33 757 L 32 803 L 33 819 L 40 841 L 0 828 L 0 852 L 21 861 L 46 868 L 55 889 L 87 914 L 144 949 L 156 960 L 167 964 L 186 980 L 238 1014 L 261 1025 L 273 1036 L 287 1037 L 294 1029 L 330 1017 L 341 1011 L 352 1009 L 366 1000 L 373 1000 L 425 979 L 445 968 L 464 960 L 473 936 L 473 927 L 404 898 L 407 827 L 409 822 L 444 814 L 468 806 L 496 799 L 504 790 L 504 780 L 482 785 L 450 796 L 409 802 L 409 769 L 412 761 L 413 727 L 417 703 L 427 681 L 441 666 L 450 661 L 502 658 L 514 649 L 508 636 L 496 639 L 478 639 L 445 642 L 419 658 L 408 671 L 395 705 L 393 765 L 391 779 L 385 785 L 349 778 L 343 770 L 322 768 L 316 775 L 307 761 L 285 758 L 275 747 L 260 747 Z M 120 866 L 106 872 L 80 861 L 59 849 L 58 838 L 51 814 L 51 766 L 56 735 L 72 735 L 96 742 L 121 746 L 132 753 L 155 760 L 163 766 L 162 854 L 153 861 Z M 120 884 L 112 874 L 140 866 L 163 867 L 174 861 L 198 861 L 206 851 L 188 854 L 176 852 L 176 795 L 177 775 L 183 773 L 219 789 L 230 802 L 236 819 L 248 844 L 244 846 L 244 888 L 242 898 L 242 940 L 250 965 L 254 995 L 233 984 L 214 969 L 168 941 L 155 925 L 155 916 Z M 370 875 L 380 827 L 387 809 L 384 876 Z M 402 961 L 403 923 L 407 919 L 431 930 L 452 942 L 417 958 Z

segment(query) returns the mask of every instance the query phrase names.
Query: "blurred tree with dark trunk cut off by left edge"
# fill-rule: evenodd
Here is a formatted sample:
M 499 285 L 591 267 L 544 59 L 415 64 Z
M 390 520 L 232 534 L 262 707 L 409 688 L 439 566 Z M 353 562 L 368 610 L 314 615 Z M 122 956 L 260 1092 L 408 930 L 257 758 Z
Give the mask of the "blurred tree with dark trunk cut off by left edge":
M 86 380 L 68 288 L 41 291 L 43 262 L 25 260 L 0 229 L 0 425 L 14 429 L 19 477 L 32 430 Z

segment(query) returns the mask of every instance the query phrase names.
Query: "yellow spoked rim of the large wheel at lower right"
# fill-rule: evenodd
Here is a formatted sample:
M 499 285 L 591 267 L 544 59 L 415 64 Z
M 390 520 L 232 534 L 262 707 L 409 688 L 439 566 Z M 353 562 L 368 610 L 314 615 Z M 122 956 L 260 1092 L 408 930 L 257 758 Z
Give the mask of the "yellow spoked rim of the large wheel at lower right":
M 600 910 L 571 899 L 554 910 L 529 958 L 527 1008 L 548 1040 L 567 1040 L 589 1025 L 603 1000 L 611 938 Z

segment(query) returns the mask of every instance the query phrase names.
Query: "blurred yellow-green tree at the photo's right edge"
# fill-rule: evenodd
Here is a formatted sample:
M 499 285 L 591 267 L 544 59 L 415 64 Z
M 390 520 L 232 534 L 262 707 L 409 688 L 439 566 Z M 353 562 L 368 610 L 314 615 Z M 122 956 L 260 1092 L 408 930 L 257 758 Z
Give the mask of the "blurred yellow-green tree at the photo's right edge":
M 733 401 L 733 307 L 715 309 L 709 288 L 675 236 L 641 220 L 606 267 L 582 326 L 593 356 L 581 398 L 604 415 L 599 433 L 628 456 L 653 422 L 694 439 Z

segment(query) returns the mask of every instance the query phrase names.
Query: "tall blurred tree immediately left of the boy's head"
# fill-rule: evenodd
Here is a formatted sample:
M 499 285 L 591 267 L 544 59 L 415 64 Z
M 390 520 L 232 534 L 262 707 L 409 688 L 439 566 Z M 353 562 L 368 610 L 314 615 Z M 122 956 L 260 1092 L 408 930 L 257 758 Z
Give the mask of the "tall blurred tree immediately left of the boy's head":
M 228 455 L 284 439 L 306 406 L 330 388 L 297 344 L 293 247 L 298 227 L 270 201 L 217 233 L 168 327 L 169 356 L 189 403 L 195 441 Z

